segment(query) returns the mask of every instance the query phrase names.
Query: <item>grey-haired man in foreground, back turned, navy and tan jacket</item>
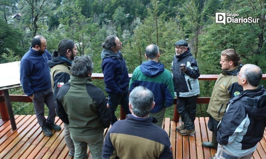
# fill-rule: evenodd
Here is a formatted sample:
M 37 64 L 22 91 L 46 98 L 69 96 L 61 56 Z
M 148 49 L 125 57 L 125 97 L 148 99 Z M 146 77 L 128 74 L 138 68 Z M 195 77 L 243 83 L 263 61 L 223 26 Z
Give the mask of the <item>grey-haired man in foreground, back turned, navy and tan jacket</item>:
M 149 112 L 154 107 L 152 92 L 145 87 L 135 87 L 129 95 L 126 120 L 117 121 L 108 131 L 102 158 L 173 158 L 167 133 L 153 124 Z

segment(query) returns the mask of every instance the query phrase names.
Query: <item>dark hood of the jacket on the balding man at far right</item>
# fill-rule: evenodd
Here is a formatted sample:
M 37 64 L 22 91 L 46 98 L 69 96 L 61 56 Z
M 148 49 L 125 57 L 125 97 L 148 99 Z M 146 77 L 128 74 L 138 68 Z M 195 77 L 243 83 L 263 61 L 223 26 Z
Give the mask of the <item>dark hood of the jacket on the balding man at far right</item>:
M 254 119 L 261 120 L 266 118 L 266 89 L 264 89 L 264 86 L 259 86 L 253 90 L 245 90 L 231 100 L 234 102 L 239 98 L 247 112 Z

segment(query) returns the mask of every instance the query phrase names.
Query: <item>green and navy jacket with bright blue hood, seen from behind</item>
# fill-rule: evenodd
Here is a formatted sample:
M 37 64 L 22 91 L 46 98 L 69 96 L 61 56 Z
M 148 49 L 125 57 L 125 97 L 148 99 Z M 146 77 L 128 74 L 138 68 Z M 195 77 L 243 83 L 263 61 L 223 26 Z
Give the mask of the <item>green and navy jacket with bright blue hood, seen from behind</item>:
M 175 98 L 173 78 L 160 62 L 145 61 L 134 70 L 129 83 L 129 92 L 137 86 L 143 86 L 152 91 L 155 102 L 152 113 L 173 105 Z

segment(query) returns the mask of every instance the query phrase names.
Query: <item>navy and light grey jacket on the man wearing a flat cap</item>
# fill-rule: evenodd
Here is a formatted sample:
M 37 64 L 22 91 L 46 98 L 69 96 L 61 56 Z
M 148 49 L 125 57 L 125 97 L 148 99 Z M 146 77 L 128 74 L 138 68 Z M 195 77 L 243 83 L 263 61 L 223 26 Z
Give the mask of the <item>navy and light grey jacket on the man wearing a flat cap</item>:
M 186 73 L 181 73 L 180 64 L 186 64 Z M 200 94 L 198 62 L 190 53 L 190 48 L 185 53 L 174 56 L 172 73 L 175 92 L 178 97 L 191 97 Z

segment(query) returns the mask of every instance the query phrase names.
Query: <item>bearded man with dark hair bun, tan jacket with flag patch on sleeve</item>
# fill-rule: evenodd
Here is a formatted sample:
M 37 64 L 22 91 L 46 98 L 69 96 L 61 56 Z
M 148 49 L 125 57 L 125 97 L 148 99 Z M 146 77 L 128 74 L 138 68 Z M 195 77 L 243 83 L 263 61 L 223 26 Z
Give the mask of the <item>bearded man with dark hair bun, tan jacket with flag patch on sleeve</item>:
M 51 83 L 53 88 L 53 96 L 56 100 L 56 95 L 60 87 L 65 83 L 68 83 L 70 75 L 72 75 L 70 69 L 72 60 L 77 56 L 77 45 L 73 40 L 63 39 L 58 44 L 58 49 L 53 51 L 52 59 L 48 61 L 48 66 L 51 68 Z M 70 138 L 70 132 L 68 124 L 64 123 L 65 130 L 65 143 L 68 146 L 70 156 L 74 156 L 75 148 L 72 139 Z

